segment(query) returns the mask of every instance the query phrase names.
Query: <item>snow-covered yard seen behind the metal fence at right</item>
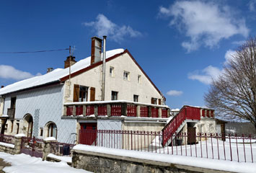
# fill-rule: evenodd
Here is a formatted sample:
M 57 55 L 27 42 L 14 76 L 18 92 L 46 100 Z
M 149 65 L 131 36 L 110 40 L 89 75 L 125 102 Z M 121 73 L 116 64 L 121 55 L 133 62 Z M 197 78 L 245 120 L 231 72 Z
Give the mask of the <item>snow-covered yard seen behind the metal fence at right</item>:
M 208 138 L 207 142 L 202 138 L 202 141 L 198 142 L 198 144 L 194 145 L 183 145 L 183 146 L 168 146 L 162 148 L 161 146 L 162 139 L 156 136 L 153 142 L 148 148 L 144 148 L 144 151 L 153 151 L 162 154 L 175 154 L 182 156 L 197 156 L 203 158 L 211 158 L 211 159 L 222 159 L 232 160 L 234 162 L 239 161 L 244 162 L 245 159 L 247 162 L 256 161 L 256 139 L 247 140 L 244 139 L 244 144 L 242 143 L 242 139 L 231 138 L 229 142 L 229 138 L 226 138 L 226 141 L 217 140 L 213 138 Z M 236 142 L 237 141 L 237 142 Z M 240 142 L 240 143 L 239 143 Z M 251 144 L 252 143 L 252 148 Z M 238 150 L 238 152 L 237 152 Z M 245 156 L 244 156 L 245 154 Z

